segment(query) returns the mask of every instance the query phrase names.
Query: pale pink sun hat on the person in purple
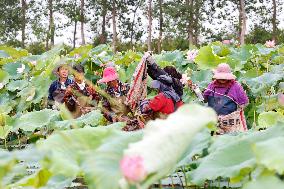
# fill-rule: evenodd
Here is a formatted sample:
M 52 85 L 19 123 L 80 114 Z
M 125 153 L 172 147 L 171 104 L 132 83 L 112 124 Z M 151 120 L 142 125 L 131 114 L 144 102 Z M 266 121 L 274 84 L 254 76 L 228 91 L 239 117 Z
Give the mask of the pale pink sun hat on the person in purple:
M 214 79 L 224 79 L 224 80 L 236 79 L 236 76 L 232 74 L 230 66 L 226 63 L 219 64 L 213 72 L 214 72 L 213 75 Z

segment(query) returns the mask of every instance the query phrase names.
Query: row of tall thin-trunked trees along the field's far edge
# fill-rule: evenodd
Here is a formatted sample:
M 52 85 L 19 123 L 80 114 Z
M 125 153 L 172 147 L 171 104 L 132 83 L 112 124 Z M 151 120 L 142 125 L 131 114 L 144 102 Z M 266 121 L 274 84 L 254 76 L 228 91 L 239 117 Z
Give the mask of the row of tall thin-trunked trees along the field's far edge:
M 284 30 L 279 27 L 283 2 L 1 0 L 0 43 L 35 54 L 50 49 L 56 37 L 66 35 L 70 48 L 87 41 L 111 43 L 113 51 L 135 48 L 158 53 L 227 39 L 240 44 L 270 39 L 283 43 Z M 91 35 L 86 37 L 86 32 Z

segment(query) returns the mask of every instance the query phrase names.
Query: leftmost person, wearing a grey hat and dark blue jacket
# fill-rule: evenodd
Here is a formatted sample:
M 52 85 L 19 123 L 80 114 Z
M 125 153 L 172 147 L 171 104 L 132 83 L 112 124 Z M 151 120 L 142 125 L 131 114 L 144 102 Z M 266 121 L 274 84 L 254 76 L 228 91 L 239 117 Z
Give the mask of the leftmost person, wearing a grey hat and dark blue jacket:
M 54 101 L 63 103 L 66 88 L 73 83 L 68 78 L 69 67 L 67 64 L 60 64 L 53 70 L 53 74 L 58 77 L 53 81 L 48 90 L 48 100 L 50 104 L 54 104 Z

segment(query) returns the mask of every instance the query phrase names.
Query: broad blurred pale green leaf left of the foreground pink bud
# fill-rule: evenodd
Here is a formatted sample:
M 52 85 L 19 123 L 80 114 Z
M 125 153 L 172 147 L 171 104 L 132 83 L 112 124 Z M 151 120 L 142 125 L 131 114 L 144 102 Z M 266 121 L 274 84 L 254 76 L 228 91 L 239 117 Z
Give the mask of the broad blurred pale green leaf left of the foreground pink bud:
M 47 155 L 43 165 L 53 175 L 73 178 L 84 173 L 91 186 L 104 188 L 103 185 L 118 185 L 118 177 L 113 177 L 109 182 L 109 177 L 104 175 L 121 174 L 118 167 L 123 150 L 140 137 L 140 132 L 126 133 L 113 127 L 86 127 L 53 134 L 47 140 L 40 141 L 37 147 Z

